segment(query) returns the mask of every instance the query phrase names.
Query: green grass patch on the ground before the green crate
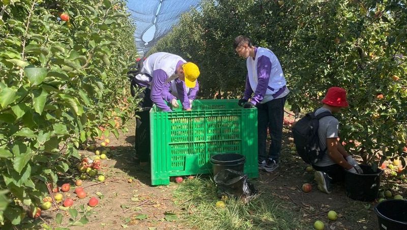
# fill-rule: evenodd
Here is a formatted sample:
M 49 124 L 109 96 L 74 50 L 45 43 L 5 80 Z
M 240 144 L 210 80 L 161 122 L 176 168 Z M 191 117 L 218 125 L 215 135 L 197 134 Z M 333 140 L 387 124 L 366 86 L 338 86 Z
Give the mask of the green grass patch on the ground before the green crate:
M 261 193 L 248 204 L 223 196 L 224 208 L 215 206 L 221 198 L 212 179 L 186 180 L 174 191 L 175 204 L 185 210 L 184 221 L 196 229 L 303 229 L 299 217 L 271 194 Z

